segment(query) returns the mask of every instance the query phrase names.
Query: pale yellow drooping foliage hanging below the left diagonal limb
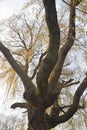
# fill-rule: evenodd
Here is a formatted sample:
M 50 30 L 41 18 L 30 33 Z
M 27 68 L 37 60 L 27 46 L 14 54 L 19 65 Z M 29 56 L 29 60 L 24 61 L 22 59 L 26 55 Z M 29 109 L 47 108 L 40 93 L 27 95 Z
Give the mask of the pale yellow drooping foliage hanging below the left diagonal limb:
M 10 90 L 12 90 L 12 95 L 14 96 L 18 87 L 17 73 L 11 66 L 9 66 L 7 61 L 3 61 L 2 65 L 0 66 L 0 70 L 0 78 L 5 80 L 7 95 L 9 94 Z

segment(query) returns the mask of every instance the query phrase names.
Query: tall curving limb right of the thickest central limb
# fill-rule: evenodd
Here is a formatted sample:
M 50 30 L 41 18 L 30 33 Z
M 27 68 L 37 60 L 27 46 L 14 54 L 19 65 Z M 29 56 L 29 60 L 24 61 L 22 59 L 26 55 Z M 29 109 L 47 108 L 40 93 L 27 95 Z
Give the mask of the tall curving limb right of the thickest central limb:
M 71 0 L 71 3 L 73 0 Z M 65 58 L 71 49 L 74 40 L 75 40 L 75 6 L 70 6 L 70 17 L 69 17 L 69 31 L 67 36 L 67 41 L 65 45 L 60 49 L 59 55 L 58 55 L 58 61 L 55 65 L 55 68 L 51 72 L 50 79 L 49 79 L 49 87 L 53 88 L 56 86 L 58 79 L 61 75 L 62 67 L 65 61 Z M 55 76 L 56 75 L 56 76 Z

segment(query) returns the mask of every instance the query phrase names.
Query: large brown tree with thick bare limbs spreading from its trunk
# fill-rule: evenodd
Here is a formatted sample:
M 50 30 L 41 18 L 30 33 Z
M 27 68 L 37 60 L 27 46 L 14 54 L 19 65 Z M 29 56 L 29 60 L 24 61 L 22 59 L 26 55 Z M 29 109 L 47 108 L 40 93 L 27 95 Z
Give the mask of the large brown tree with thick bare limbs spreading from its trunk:
M 70 79 L 61 83 L 59 78 L 65 58 L 75 41 L 76 6 L 80 4 L 80 1 L 71 0 L 69 4 L 69 30 L 66 42 L 62 47 L 55 0 L 43 0 L 43 4 L 49 31 L 49 47 L 40 56 L 39 67 L 34 73 L 34 76 L 36 75 L 36 85 L 33 82 L 33 78 L 29 77 L 26 70 L 17 63 L 9 49 L 0 42 L 0 51 L 21 78 L 24 85 L 23 97 L 26 102 L 14 103 L 11 108 L 20 107 L 27 109 L 29 121 L 27 130 L 49 130 L 58 124 L 68 121 L 77 109 L 81 107 L 79 101 L 87 87 L 87 77 L 85 77 L 74 94 L 73 103 L 68 106 L 67 112 L 64 112 L 64 107 L 58 104 L 60 92 L 65 86 L 75 84 L 75 82 Z M 50 106 L 52 106 L 50 114 L 47 114 L 46 110 Z

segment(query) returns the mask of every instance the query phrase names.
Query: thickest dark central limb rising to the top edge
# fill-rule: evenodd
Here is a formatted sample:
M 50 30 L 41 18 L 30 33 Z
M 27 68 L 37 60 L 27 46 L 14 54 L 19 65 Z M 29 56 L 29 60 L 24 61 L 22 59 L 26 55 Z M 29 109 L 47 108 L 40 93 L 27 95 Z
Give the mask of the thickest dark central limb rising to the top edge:
M 49 75 L 57 62 L 60 45 L 60 29 L 57 21 L 55 0 L 43 0 L 43 3 L 49 31 L 49 47 L 36 79 L 38 88 L 44 93 L 44 90 L 46 90 L 48 86 Z

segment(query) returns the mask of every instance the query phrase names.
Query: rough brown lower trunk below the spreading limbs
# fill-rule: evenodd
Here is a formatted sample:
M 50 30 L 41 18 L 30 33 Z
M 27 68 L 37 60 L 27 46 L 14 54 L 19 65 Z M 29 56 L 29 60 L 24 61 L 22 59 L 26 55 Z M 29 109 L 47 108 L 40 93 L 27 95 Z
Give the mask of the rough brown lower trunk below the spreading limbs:
M 27 130 L 49 130 L 43 108 L 29 108 Z

